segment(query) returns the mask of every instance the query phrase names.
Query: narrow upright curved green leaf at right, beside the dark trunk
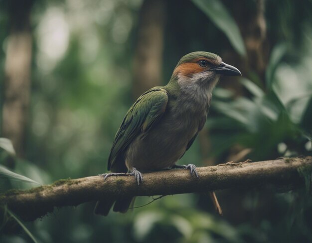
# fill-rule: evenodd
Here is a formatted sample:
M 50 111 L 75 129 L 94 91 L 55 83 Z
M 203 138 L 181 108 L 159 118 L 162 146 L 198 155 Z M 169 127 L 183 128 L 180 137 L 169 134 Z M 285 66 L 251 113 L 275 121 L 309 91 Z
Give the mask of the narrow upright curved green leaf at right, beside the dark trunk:
M 286 51 L 287 51 L 287 48 L 284 43 L 276 45 L 272 50 L 272 54 L 270 56 L 269 64 L 268 64 L 266 74 L 265 74 L 266 86 L 268 90 L 272 89 L 272 84 L 273 84 L 276 68 L 280 64 Z

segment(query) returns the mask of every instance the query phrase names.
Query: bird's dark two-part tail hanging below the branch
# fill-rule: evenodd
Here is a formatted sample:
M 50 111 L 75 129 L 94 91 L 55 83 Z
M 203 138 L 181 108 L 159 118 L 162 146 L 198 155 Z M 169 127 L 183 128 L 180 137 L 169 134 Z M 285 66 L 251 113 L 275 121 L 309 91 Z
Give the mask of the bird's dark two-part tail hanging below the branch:
M 103 200 L 98 201 L 94 208 L 94 213 L 96 215 L 107 216 L 110 212 L 111 208 L 114 205 L 113 211 L 126 213 L 131 205 L 134 204 L 135 198 L 122 198 L 122 199 L 114 199 L 114 200 Z

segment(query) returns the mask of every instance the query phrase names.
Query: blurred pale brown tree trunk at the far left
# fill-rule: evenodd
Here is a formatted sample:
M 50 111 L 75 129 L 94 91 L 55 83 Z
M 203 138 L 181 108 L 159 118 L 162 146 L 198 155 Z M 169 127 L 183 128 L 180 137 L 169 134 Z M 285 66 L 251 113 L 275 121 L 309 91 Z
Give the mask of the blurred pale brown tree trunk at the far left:
M 10 34 L 5 58 L 2 136 L 10 139 L 18 156 L 24 155 L 27 123 L 32 37 L 32 0 L 9 0 Z

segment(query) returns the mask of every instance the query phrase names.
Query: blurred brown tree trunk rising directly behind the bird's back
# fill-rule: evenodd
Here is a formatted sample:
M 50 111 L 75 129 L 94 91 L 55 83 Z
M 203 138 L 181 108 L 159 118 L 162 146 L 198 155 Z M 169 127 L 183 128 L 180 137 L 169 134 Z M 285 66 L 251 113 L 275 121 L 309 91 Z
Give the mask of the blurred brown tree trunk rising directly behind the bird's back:
M 165 1 L 143 2 L 138 28 L 138 43 L 134 57 L 133 96 L 161 85 Z

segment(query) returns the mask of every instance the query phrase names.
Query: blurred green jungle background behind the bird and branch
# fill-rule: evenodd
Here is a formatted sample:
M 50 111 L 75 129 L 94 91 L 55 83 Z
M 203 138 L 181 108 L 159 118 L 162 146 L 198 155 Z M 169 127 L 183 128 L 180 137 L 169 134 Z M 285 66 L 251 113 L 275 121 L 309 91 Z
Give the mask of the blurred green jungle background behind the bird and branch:
M 243 75 L 222 78 L 180 164 L 312 155 L 311 9 L 311 0 L 0 0 L 0 192 L 36 186 L 20 175 L 49 184 L 106 172 L 131 104 L 198 50 Z M 223 217 L 208 194 L 108 217 L 93 215 L 95 203 L 33 223 L 6 216 L 0 242 L 312 242 L 308 189 L 216 192 Z

